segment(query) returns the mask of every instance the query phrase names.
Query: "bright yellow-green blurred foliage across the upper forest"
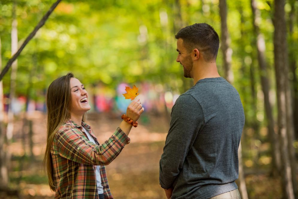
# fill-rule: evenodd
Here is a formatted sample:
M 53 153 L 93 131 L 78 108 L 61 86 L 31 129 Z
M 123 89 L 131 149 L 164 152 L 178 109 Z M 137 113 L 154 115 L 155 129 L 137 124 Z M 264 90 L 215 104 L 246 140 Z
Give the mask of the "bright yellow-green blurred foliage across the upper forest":
M 53 2 L 17 1 L 19 44 Z M 17 95 L 26 94 L 29 78 L 32 78 L 31 97 L 43 100 L 49 83 L 69 71 L 86 85 L 103 82 L 115 88 L 119 82 L 132 84 L 149 81 L 161 83 L 167 90 L 182 93 L 189 87 L 183 85 L 186 80 L 182 77 L 182 67 L 176 63 L 174 35 L 181 28 L 176 24 L 177 19 L 181 16 L 184 25 L 207 22 L 220 35 L 218 3 L 218 0 L 145 0 L 142 3 L 137 0 L 62 1 L 18 58 Z M 240 92 L 248 121 L 246 124 L 250 126 L 256 117 L 250 88 L 254 88 L 258 99 L 261 99 L 250 1 L 227 3 L 234 85 Z M 257 1 L 261 11 L 260 31 L 265 38 L 270 79 L 274 82 L 271 4 L 272 1 Z M 294 6 L 297 10 L 297 2 Z M 0 2 L 2 65 L 11 57 L 11 10 L 12 1 Z M 286 12 L 290 10 L 291 5 L 287 4 Z M 297 35 L 296 25 L 289 39 L 291 52 L 297 49 Z M 217 65 L 223 76 L 221 51 L 217 56 Z M 251 83 L 251 77 L 254 83 Z M 4 93 L 8 94 L 9 73 L 4 76 L 3 84 Z M 274 90 L 274 84 L 271 86 Z M 259 122 L 263 121 L 263 109 L 262 100 L 258 100 Z

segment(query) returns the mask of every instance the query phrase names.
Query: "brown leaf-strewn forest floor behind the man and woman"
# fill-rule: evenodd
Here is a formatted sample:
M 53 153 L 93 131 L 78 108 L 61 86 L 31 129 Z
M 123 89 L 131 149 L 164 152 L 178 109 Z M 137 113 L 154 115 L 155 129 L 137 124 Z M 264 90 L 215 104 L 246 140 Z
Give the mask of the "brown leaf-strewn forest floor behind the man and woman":
M 22 145 L 22 117 L 17 117 L 14 124 L 13 143 L 10 145 L 12 162 L 10 168 L 10 187 L 19 191 L 19 198 L 53 198 L 46 173 L 42 169 L 42 159 L 46 145 L 46 117 L 40 112 L 28 116 L 33 121 L 33 153 L 29 154 L 28 133 L 25 134 L 25 150 Z M 107 140 L 115 131 L 121 118 L 119 115 L 92 113 L 87 116 L 87 122 L 92 127 L 100 143 Z M 133 128 L 126 145 L 120 155 L 106 166 L 111 192 L 116 199 L 126 198 L 166 198 L 163 189 L 158 184 L 159 159 L 163 152 L 164 141 L 169 127 L 169 120 L 164 116 L 143 114 L 139 126 Z M 245 150 L 245 149 L 243 149 Z M 267 167 L 268 168 L 268 167 Z M 269 176 L 269 170 L 260 168 L 246 174 L 246 186 L 249 198 L 279 199 L 281 198 L 280 181 Z M 259 172 L 262 171 L 262 172 Z M 2 198 L 18 198 L 4 195 Z

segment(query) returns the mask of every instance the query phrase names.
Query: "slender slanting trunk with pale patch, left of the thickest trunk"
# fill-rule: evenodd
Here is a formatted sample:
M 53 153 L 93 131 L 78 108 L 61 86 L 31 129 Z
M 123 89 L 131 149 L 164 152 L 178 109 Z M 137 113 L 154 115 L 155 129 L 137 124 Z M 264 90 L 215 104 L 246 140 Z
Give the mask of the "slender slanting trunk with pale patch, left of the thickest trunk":
M 261 78 L 261 86 L 264 94 L 264 107 L 267 119 L 267 129 L 269 133 L 270 143 L 271 143 L 271 156 L 273 159 L 272 173 L 276 176 L 281 171 L 281 160 L 279 151 L 278 135 L 274 131 L 274 119 L 272 114 L 272 106 L 269 101 L 269 91 L 270 91 L 270 80 L 267 71 L 267 63 L 265 59 L 265 40 L 263 35 L 259 31 L 258 21 L 261 19 L 261 13 L 256 6 L 256 1 L 251 0 L 252 7 L 252 20 L 254 25 L 254 35 L 256 40 L 256 47 L 258 53 L 258 65 L 259 73 Z

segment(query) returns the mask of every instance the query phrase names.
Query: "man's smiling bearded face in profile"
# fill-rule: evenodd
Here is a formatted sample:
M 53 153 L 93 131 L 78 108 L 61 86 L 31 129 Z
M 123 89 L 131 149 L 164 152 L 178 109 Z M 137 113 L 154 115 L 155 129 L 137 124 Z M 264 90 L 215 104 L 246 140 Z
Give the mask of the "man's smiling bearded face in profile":
M 179 54 L 176 61 L 180 62 L 183 66 L 184 77 L 192 78 L 191 71 L 193 69 L 193 60 L 190 53 L 188 53 L 187 49 L 184 47 L 183 40 L 181 38 L 177 40 L 177 51 Z

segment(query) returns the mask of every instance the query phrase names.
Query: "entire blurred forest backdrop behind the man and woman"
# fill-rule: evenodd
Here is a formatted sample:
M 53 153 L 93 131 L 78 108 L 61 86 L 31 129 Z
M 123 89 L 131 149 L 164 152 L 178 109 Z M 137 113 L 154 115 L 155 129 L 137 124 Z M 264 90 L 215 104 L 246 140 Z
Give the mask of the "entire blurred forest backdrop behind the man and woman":
M 0 1 L 0 68 L 54 2 Z M 219 73 L 238 90 L 245 111 L 242 198 L 288 198 L 291 189 L 297 198 L 297 10 L 297 0 L 61 1 L 0 85 L 0 196 L 53 198 L 42 168 L 45 94 L 72 72 L 89 93 L 87 121 L 101 143 L 131 102 L 125 86 L 139 88 L 145 112 L 131 143 L 106 167 L 111 192 L 116 199 L 166 198 L 158 172 L 171 108 L 193 86 L 176 62 L 175 34 L 206 22 L 221 39 Z

